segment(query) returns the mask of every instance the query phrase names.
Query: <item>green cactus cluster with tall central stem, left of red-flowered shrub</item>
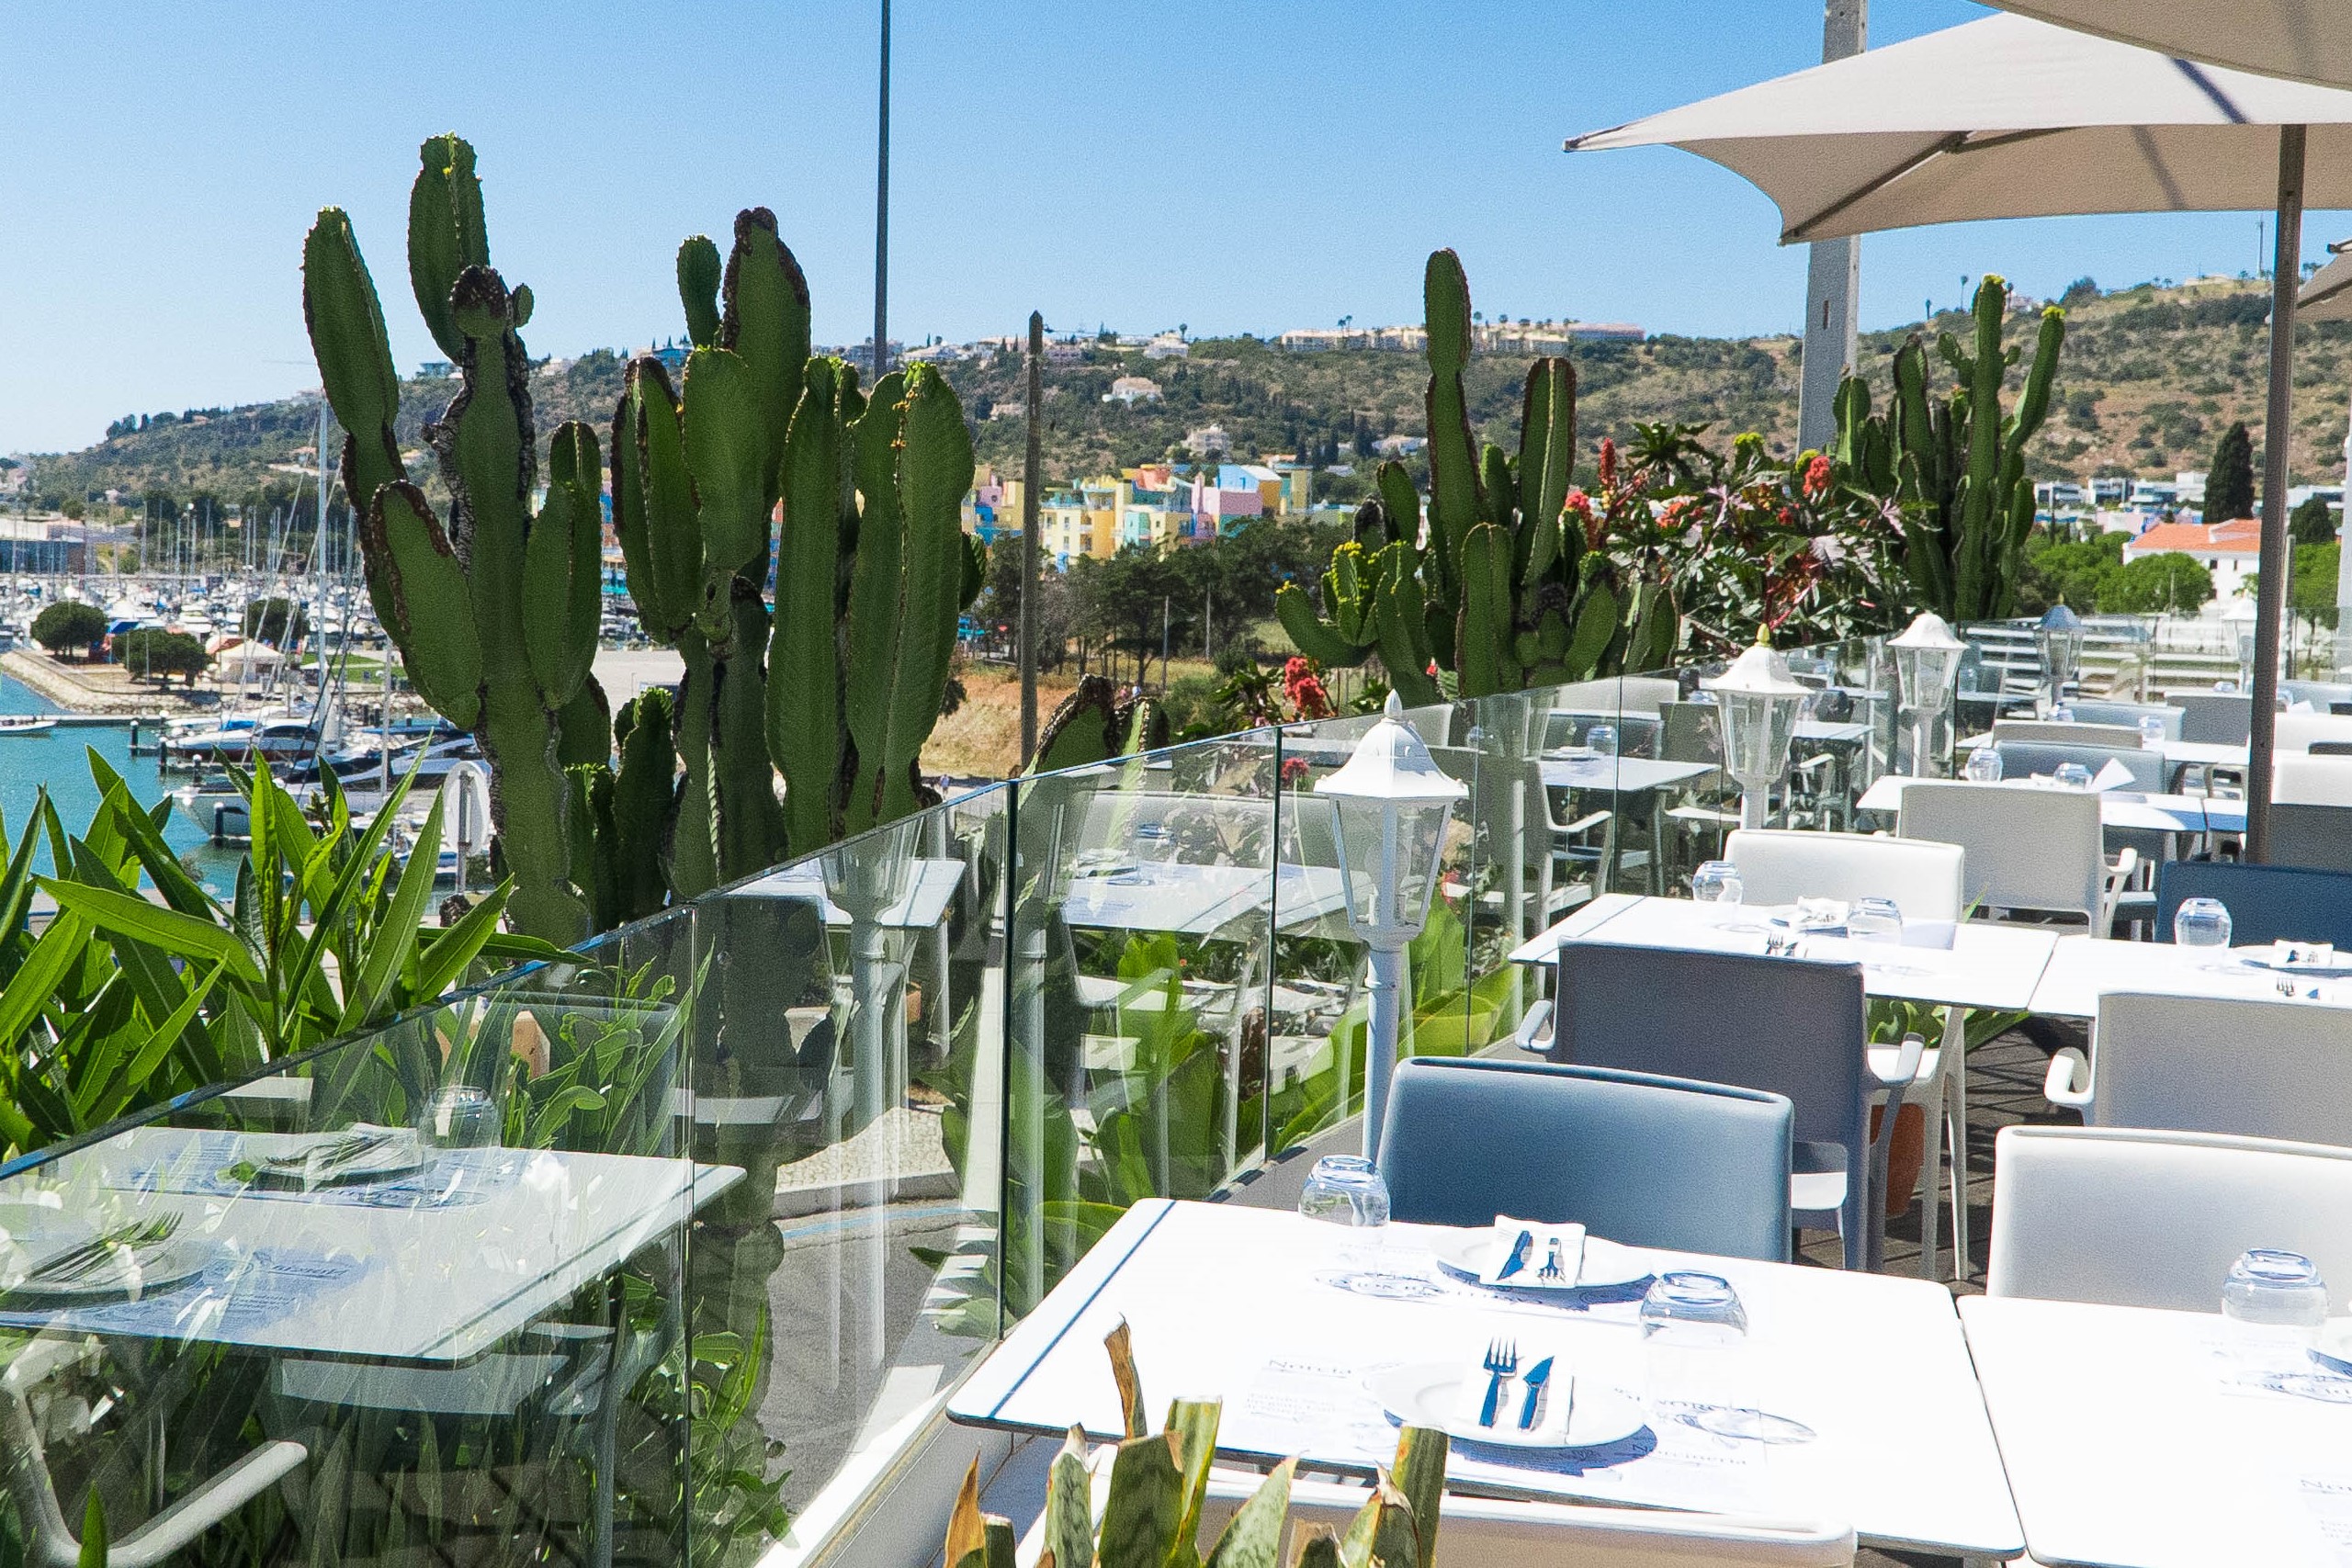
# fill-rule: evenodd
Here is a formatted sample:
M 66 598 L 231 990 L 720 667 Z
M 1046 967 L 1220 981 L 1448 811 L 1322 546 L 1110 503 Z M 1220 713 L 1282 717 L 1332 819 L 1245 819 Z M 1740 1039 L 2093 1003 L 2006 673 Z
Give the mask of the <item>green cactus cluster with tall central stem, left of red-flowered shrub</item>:
M 1357 663 L 1378 649 L 1409 703 L 1435 701 L 1437 682 L 1418 677 L 1430 661 L 1451 672 L 1463 698 L 1665 665 L 1679 635 L 1672 599 L 1656 583 L 1623 583 L 1616 562 L 1590 550 L 1566 517 L 1576 369 L 1566 360 L 1529 367 L 1517 458 L 1494 444 L 1477 449 L 1463 395 L 1470 284 L 1454 252 L 1430 256 L 1423 308 L 1428 545 L 1414 548 L 1418 529 L 1376 552 L 1341 545 L 1322 616 L 1296 588 L 1275 597 L 1284 630 L 1324 663 Z M 1388 470 L 1381 491 L 1383 515 L 1418 517 L 1418 503 L 1406 512 L 1390 501 Z M 1399 665 L 1416 679 L 1402 679 Z

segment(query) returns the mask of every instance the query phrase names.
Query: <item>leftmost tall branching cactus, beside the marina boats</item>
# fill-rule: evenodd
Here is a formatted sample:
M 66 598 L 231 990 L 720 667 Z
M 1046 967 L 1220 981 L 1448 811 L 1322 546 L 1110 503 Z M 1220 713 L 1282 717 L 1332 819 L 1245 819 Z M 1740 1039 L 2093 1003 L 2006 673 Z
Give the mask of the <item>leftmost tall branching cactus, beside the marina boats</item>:
M 360 512 L 367 590 L 416 691 L 489 757 L 494 853 L 515 877 L 515 926 L 579 940 L 588 905 L 572 884 L 562 715 L 602 715 L 588 665 L 604 468 L 595 433 L 562 425 L 546 498 L 532 510 L 536 428 L 520 339 L 532 294 L 489 268 L 482 188 L 459 136 L 421 148 L 409 287 L 463 378 L 426 425 L 449 489 L 447 524 L 400 461 L 400 378 L 350 219 L 320 212 L 303 242 L 303 315 L 346 430 L 341 480 Z

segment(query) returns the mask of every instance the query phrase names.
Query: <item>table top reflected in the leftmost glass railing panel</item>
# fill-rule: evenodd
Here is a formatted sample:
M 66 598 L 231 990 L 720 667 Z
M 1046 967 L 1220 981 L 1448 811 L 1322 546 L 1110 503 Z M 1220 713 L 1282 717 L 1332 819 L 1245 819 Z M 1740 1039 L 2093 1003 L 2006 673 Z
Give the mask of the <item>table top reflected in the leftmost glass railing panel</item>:
M 299 1143 L 148 1126 L 7 1182 L 9 1206 L 54 1194 L 68 1225 L 174 1213 L 174 1248 L 209 1251 L 212 1262 L 200 1279 L 139 1302 L 9 1309 L 0 1324 L 470 1361 L 743 1178 L 734 1166 L 548 1150 L 466 1150 L 400 1192 L 383 1182 L 303 1194 L 221 1175 L 238 1159 Z

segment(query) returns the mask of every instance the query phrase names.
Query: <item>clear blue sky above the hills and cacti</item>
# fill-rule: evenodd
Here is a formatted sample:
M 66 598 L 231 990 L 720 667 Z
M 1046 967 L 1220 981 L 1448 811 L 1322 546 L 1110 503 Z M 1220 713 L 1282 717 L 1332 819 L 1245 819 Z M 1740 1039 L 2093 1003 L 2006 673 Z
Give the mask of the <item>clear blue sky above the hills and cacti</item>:
M 1872 40 L 1980 16 L 1875 0 Z M 1454 244 L 1477 303 L 1651 331 L 1790 329 L 1771 205 L 1675 150 L 1562 136 L 1813 63 L 1818 0 L 898 0 L 891 334 L 1418 320 Z M 0 451 L 127 411 L 315 386 L 301 235 L 353 212 L 405 364 L 416 143 L 480 148 L 534 353 L 680 331 L 677 240 L 783 219 L 821 341 L 873 315 L 870 2 L 9 5 Z M 2307 228 L 2307 254 L 2352 233 Z M 1875 235 L 1863 320 L 2002 270 L 2034 294 L 2246 270 L 2256 216 Z

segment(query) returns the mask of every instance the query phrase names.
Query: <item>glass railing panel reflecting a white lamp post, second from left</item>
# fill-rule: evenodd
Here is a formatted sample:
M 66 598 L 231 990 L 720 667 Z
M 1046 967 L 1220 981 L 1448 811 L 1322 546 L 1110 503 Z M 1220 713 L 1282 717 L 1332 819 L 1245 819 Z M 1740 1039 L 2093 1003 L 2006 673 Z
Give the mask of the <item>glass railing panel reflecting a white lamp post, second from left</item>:
M 694 903 L 680 1124 L 743 1173 L 687 1274 L 696 1363 L 729 1371 L 694 1453 L 713 1561 L 880 1474 L 1000 1333 L 1007 804 Z

